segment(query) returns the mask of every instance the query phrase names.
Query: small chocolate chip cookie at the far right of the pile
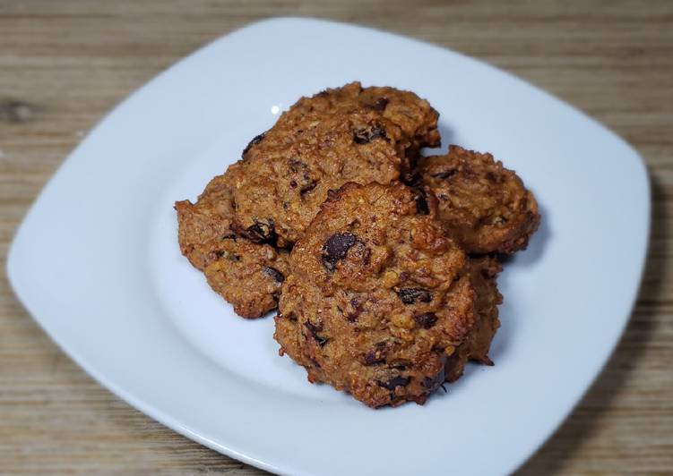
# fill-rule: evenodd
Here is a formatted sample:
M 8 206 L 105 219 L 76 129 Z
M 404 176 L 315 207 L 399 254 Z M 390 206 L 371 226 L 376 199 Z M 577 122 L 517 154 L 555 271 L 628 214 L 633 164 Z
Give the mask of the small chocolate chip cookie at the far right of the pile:
M 490 154 L 451 146 L 447 155 L 421 158 L 418 174 L 448 233 L 470 254 L 523 250 L 538 228 L 531 191 Z

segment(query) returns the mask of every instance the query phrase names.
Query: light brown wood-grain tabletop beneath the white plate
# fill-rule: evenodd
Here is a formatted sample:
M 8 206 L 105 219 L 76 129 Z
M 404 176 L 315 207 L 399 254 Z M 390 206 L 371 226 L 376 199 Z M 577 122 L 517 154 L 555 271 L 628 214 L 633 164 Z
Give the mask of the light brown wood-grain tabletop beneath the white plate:
M 195 48 L 277 15 L 354 21 L 476 56 L 580 107 L 640 151 L 651 172 L 653 224 L 633 317 L 582 404 L 522 473 L 673 472 L 670 0 L 0 0 L 2 268 L 26 209 L 102 115 Z M 609 180 L 609 157 L 605 165 Z M 30 319 L 3 274 L 0 473 L 38 472 L 260 473 L 99 387 Z

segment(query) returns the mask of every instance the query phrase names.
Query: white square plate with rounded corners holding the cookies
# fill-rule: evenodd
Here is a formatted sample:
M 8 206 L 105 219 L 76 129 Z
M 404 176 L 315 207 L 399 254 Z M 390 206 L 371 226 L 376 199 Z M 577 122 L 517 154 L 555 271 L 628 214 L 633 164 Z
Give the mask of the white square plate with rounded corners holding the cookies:
M 499 282 L 492 368 L 425 406 L 370 410 L 277 355 L 272 319 L 237 318 L 177 249 L 192 198 L 298 97 L 347 81 L 417 91 L 444 144 L 521 174 L 542 225 Z M 150 81 L 74 150 L 9 256 L 16 293 L 103 385 L 226 455 L 293 474 L 513 471 L 597 376 L 631 312 L 650 194 L 638 154 L 505 72 L 374 30 L 280 19 Z

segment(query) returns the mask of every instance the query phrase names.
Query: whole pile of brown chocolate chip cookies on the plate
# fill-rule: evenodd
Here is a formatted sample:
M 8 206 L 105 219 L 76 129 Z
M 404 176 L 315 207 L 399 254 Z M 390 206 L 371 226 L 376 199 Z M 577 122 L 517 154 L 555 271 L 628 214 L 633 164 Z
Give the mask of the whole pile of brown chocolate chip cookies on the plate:
M 278 309 L 280 354 L 372 407 L 492 365 L 499 259 L 539 225 L 490 154 L 421 156 L 437 118 L 409 91 L 326 89 L 176 203 L 180 250 L 212 289 L 244 318 Z

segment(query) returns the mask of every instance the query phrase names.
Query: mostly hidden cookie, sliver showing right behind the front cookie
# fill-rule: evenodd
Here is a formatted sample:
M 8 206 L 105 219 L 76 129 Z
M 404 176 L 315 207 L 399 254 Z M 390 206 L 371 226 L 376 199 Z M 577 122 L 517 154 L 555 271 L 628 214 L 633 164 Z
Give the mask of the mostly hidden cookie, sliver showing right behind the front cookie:
M 503 295 L 497 290 L 496 276 L 502 270 L 502 265 L 495 258 L 484 256 L 470 259 L 470 280 L 476 296 L 475 310 L 479 321 L 446 361 L 447 382 L 453 382 L 462 376 L 467 361 L 493 365 L 493 361 L 488 358 L 488 350 L 497 328 L 500 327 L 497 306 L 502 304 Z

